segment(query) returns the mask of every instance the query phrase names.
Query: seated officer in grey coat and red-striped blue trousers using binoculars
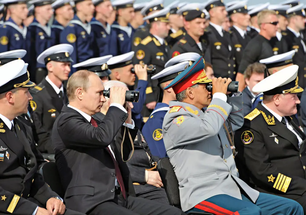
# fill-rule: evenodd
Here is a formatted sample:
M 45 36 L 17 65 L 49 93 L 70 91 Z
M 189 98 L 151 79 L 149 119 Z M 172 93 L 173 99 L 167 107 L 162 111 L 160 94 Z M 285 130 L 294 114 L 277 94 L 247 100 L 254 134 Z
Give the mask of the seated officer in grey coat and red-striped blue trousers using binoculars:
M 177 98 L 169 104 L 162 133 L 179 183 L 182 210 L 303 214 L 297 202 L 259 193 L 239 179 L 235 151 L 233 154 L 226 133 L 243 124 L 242 96 L 227 92 L 230 78 L 208 79 L 203 68 L 200 57 L 165 88 L 172 87 Z M 207 91 L 211 82 L 212 93 Z

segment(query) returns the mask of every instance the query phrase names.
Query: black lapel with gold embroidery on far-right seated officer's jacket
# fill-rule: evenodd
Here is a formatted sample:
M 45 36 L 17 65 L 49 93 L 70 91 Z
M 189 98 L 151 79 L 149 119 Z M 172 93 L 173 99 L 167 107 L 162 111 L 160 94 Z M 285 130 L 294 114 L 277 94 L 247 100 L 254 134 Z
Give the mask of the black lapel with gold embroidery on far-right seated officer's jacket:
M 262 113 L 263 118 L 266 120 L 268 124 L 268 129 L 270 129 L 273 133 L 277 134 L 278 136 L 284 138 L 285 140 L 290 141 L 295 148 L 299 151 L 299 141 L 297 139 L 297 136 L 291 132 L 282 122 L 279 122 L 277 118 L 274 118 L 274 116 L 268 111 L 266 108 L 262 106 L 261 103 L 257 105 L 257 109 Z M 271 120 L 269 120 L 271 119 Z

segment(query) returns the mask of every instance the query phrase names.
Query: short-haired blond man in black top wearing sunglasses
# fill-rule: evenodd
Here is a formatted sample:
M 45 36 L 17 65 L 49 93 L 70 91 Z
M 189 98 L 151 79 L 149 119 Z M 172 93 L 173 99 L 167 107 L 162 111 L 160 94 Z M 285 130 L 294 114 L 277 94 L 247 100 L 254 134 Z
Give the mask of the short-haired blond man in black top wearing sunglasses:
M 270 39 L 276 36 L 278 29 L 278 18 L 276 15 L 274 10 L 263 10 L 257 15 L 260 32 L 245 47 L 236 76 L 236 81 L 240 82 L 240 92 L 242 92 L 245 86 L 243 74 L 248 65 L 274 55 Z

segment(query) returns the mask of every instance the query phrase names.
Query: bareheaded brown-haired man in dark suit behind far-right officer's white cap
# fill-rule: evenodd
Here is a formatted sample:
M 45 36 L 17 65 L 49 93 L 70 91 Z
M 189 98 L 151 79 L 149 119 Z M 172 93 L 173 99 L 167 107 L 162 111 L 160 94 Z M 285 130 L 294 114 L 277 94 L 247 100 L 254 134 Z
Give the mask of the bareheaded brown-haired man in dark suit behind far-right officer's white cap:
M 247 84 L 246 88 L 242 91 L 243 100 L 243 114 L 248 115 L 252 111 L 252 103 L 258 93 L 252 91 L 253 87 L 264 78 L 265 65 L 254 63 L 248 65 L 244 71 L 244 79 Z

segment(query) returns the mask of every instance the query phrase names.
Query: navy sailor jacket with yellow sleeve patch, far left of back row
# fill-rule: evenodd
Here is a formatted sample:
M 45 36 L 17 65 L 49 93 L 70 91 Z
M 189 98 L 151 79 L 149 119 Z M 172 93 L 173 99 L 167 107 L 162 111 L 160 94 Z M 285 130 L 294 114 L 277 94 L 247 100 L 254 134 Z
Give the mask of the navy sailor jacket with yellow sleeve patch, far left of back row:
M 16 49 L 29 50 L 31 37 L 27 34 L 26 26 L 23 29 L 11 19 L 4 22 L 0 27 L 0 53 Z M 23 60 L 29 63 L 29 54 L 24 56 Z

